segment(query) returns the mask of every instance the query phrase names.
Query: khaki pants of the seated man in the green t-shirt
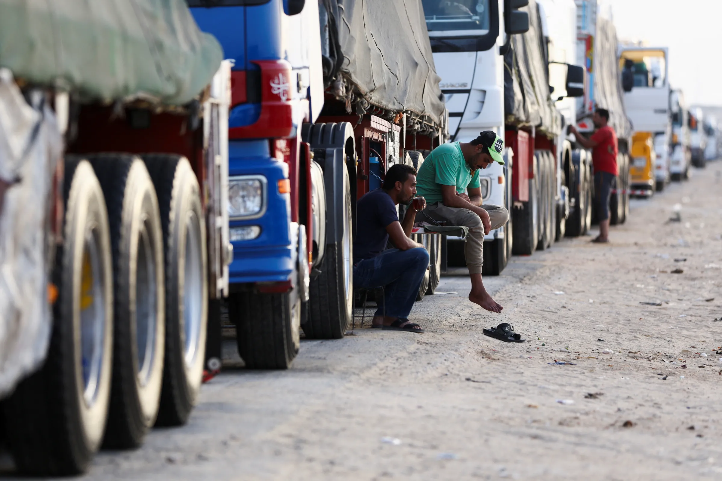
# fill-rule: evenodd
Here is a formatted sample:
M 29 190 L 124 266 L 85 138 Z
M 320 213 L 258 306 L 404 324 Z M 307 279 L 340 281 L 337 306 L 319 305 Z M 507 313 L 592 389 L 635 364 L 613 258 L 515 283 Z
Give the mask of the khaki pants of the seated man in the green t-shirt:
M 489 213 L 492 230 L 499 229 L 509 220 L 509 211 L 504 207 L 492 205 L 481 207 Z M 464 244 L 466 267 L 469 268 L 469 274 L 482 273 L 482 264 L 484 263 L 484 224 L 482 224 L 482 219 L 469 209 L 447 207 L 440 202 L 431 203 L 423 212 L 416 214 L 417 222 L 426 221 L 432 224 L 424 213 L 435 221 L 446 221 L 449 226 L 469 227 L 469 237 L 467 237 L 466 244 Z

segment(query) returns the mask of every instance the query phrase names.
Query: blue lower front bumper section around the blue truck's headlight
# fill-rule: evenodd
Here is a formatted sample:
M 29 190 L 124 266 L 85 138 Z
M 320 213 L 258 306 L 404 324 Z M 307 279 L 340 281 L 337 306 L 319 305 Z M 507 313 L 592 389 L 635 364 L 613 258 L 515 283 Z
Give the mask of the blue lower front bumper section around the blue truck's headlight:
M 256 219 L 231 219 L 233 260 L 229 266 L 231 284 L 288 281 L 294 272 L 295 246 L 292 239 L 290 195 L 279 193 L 279 180 L 287 179 L 288 166 L 270 156 L 269 142 L 231 141 L 229 177 L 253 175 L 266 179 L 263 215 Z M 240 227 L 256 226 L 254 239 L 238 240 Z

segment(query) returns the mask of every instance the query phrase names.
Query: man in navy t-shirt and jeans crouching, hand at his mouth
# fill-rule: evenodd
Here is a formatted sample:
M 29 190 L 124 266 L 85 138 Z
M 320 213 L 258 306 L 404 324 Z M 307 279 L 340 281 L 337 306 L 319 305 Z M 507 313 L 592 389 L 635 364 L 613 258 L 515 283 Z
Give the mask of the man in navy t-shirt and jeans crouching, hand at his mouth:
M 416 169 L 396 164 L 386 172 L 383 188 L 367 193 L 357 204 L 354 287 L 383 286 L 385 294 L 386 316 L 379 305 L 373 327 L 424 332 L 408 319 L 429 265 L 424 246 L 409 239 L 417 213 L 410 205 L 414 195 Z M 398 204 L 408 205 L 403 223 L 396 213 Z M 386 249 L 389 237 L 396 249 Z

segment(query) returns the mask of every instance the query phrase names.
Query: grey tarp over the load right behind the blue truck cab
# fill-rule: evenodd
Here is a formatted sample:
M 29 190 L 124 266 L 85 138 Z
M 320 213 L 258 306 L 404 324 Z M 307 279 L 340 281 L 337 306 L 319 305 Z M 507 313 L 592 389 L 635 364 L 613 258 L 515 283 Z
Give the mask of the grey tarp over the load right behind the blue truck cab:
M 411 111 L 436 125 L 445 118 L 421 0 L 323 0 L 329 13 L 330 71 L 336 96 L 392 112 Z M 334 35 L 335 34 L 335 35 Z M 324 59 L 326 60 L 326 59 Z M 347 87 L 339 88 L 341 77 Z M 357 95 L 351 99 L 349 93 Z

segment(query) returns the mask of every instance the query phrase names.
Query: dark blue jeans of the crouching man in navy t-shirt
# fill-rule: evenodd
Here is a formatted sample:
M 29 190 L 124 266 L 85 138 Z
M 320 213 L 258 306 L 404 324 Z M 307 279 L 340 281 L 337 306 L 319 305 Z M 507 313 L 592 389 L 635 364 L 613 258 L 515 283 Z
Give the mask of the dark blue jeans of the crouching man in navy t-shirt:
M 354 287 L 383 286 L 388 317 L 408 318 L 429 267 L 429 252 L 423 247 L 409 250 L 387 249 L 354 266 Z M 383 316 L 379 306 L 376 316 Z

